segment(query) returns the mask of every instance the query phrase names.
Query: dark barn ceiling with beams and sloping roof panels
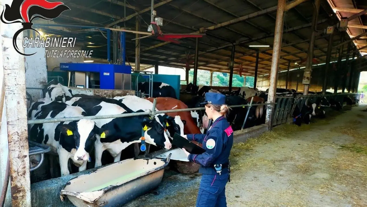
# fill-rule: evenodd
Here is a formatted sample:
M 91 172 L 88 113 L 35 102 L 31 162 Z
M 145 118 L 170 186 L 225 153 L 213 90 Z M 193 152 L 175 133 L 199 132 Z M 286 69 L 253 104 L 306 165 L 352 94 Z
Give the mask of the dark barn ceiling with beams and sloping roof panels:
M 321 0 L 317 30 L 326 29 L 328 23 L 337 18 L 328 1 L 354 0 Z M 126 4 L 124 3 L 126 2 Z M 136 30 L 136 22 L 141 22 L 139 31 L 146 32 L 150 22 L 150 0 L 64 0 L 71 10 L 63 12 L 54 22 L 67 25 L 112 27 L 117 25 Z M 364 4 L 364 6 L 362 5 Z M 155 0 L 157 16 L 164 19 L 163 33 L 199 33 L 205 29 L 206 36 L 199 41 L 199 69 L 218 72 L 229 72 L 227 63 L 230 60 L 232 45 L 235 48 L 235 74 L 242 65 L 245 75 L 254 75 L 256 53 L 259 51 L 259 75 L 268 74 L 272 58 L 273 33 L 275 29 L 277 0 Z M 366 9 L 366 3 L 353 5 L 353 8 Z M 305 1 L 285 13 L 284 34 L 282 39 L 279 70 L 298 67 L 306 59 L 308 42 L 311 34 L 311 21 L 314 5 L 312 0 Z M 126 13 L 124 12 L 126 11 Z M 341 15 L 350 15 L 341 12 Z M 361 16 L 359 23 L 367 25 L 366 15 Z M 39 21 L 41 22 L 41 20 Z M 44 23 L 44 22 L 41 22 Z M 84 47 L 92 45 L 94 58 L 106 59 L 106 34 L 99 30 L 81 27 L 47 27 L 39 26 L 46 33 L 62 36 L 76 36 L 84 42 Z M 349 28 L 349 36 L 356 36 L 365 29 Z M 316 37 L 314 58 L 319 63 L 325 62 L 328 36 Z M 347 33 L 334 35 L 334 45 L 340 43 L 341 36 L 350 37 Z M 134 66 L 135 34 L 126 34 L 127 62 Z M 141 45 L 141 63 L 147 68 L 159 63 L 164 66 L 185 67 L 189 54 L 191 60 L 195 53 L 195 38 L 182 39 L 183 43 L 174 44 L 144 38 Z M 366 41 L 358 41 L 366 44 Z M 363 43 L 364 42 L 364 43 Z M 270 45 L 268 48 L 253 48 L 249 45 Z M 357 47 L 360 47 L 357 45 Z M 88 48 L 90 49 L 90 48 Z M 339 48 L 334 47 L 332 60 L 337 59 Z M 347 47 L 344 47 L 344 52 Z M 305 63 L 303 63 L 305 64 Z M 193 64 L 191 64 L 193 67 Z

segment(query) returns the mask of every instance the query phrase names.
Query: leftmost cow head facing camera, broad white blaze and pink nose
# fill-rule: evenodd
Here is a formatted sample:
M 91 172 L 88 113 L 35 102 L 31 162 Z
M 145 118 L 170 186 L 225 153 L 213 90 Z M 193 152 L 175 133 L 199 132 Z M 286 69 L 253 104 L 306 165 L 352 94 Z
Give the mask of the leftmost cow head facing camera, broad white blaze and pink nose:
M 76 123 L 76 127 L 69 124 L 59 125 L 58 129 L 66 137 L 66 139 L 74 139 L 76 146 L 75 160 L 89 160 L 89 153 L 94 147 L 94 142 L 97 139 L 96 134 L 99 128 L 95 122 L 90 119 L 80 119 Z

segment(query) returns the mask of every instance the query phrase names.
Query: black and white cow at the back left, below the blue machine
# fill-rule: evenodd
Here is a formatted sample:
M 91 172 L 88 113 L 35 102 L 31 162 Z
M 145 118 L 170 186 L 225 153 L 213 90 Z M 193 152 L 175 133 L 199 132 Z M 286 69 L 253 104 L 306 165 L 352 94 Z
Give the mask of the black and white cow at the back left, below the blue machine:
M 65 102 L 73 97 L 72 91 L 59 83 L 48 84 L 43 90 L 43 98 L 51 101 L 62 101 Z

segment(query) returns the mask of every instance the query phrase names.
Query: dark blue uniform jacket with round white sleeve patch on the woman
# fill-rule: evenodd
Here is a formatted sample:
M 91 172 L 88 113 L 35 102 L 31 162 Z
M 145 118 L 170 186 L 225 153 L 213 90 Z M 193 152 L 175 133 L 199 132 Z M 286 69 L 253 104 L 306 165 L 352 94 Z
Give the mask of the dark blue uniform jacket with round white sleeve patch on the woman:
M 207 130 L 207 134 L 187 134 L 187 138 L 203 143 L 203 148 L 206 150 L 200 155 L 190 154 L 188 158 L 190 161 L 201 165 L 199 173 L 217 174 L 214 165 L 228 163 L 233 144 L 233 130 L 224 117 L 217 118 L 210 129 Z M 210 141 L 208 142 L 208 140 Z M 222 169 L 221 173 L 226 174 L 228 172 L 228 169 L 225 168 Z

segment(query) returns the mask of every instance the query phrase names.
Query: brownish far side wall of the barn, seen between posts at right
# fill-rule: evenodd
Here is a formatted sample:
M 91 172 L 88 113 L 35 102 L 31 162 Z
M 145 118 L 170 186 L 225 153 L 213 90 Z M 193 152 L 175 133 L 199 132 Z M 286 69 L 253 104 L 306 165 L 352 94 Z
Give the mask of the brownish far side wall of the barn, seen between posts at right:
M 334 63 L 330 64 L 329 67 L 329 75 L 327 77 L 327 88 L 333 88 L 334 90 L 334 74 L 336 65 Z M 318 67 L 315 67 L 312 69 L 311 74 L 311 84 L 309 91 L 313 92 L 321 92 L 322 91 L 322 85 L 324 81 L 324 71 L 325 71 L 326 65 L 321 65 Z M 289 79 L 288 79 L 288 89 L 295 89 L 299 92 L 303 91 L 303 84 L 302 84 L 302 78 L 303 78 L 304 69 L 298 69 L 298 70 L 292 70 L 289 71 Z M 297 77 L 297 75 L 299 77 Z M 278 73 L 277 75 L 277 88 L 286 88 L 286 79 L 287 79 L 287 72 Z M 348 79 L 348 78 L 347 78 Z M 260 76 L 257 78 L 257 88 L 259 90 L 266 90 L 269 88 L 269 75 Z M 298 82 L 298 84 L 297 84 Z M 297 86 L 298 85 L 298 86 Z M 339 84 L 339 89 L 342 84 Z M 348 86 L 348 84 L 346 85 Z

